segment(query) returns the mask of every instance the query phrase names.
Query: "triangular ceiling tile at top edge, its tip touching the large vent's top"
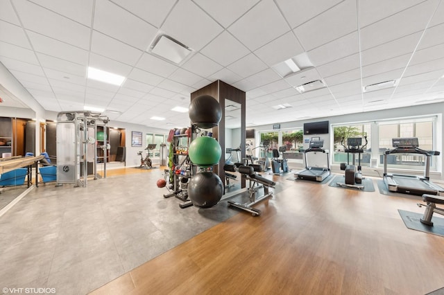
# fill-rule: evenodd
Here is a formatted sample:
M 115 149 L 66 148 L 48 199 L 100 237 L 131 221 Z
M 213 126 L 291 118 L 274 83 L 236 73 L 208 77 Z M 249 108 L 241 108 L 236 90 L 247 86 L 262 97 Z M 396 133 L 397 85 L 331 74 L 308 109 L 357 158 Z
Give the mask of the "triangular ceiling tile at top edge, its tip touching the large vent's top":
M 176 0 L 113 0 L 119 6 L 125 8 L 141 19 L 148 21 L 156 28 L 159 28 L 167 17 Z

